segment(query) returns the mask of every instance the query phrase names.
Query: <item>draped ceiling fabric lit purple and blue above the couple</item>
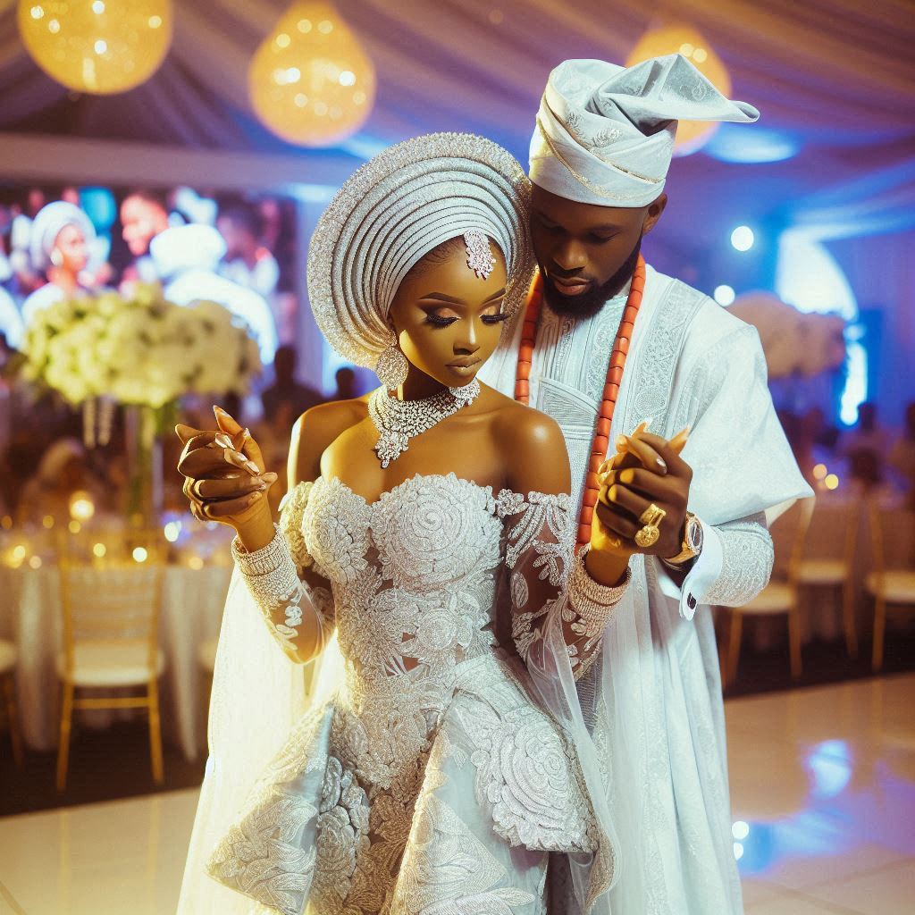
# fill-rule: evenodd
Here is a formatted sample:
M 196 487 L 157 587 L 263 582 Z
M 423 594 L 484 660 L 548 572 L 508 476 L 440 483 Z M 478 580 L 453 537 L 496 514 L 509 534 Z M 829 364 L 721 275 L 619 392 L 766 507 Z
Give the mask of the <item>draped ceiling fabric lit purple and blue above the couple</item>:
M 295 153 L 307 180 L 314 154 L 269 134 L 247 96 L 248 62 L 290 3 L 175 0 L 174 44 L 162 68 L 133 92 L 93 97 L 67 92 L 38 69 L 18 37 L 15 0 L 0 0 L 0 143 L 7 131 Z M 732 97 L 762 116 L 758 125 L 725 124 L 705 152 L 674 160 L 668 212 L 651 239 L 655 263 L 676 269 L 707 261 L 738 221 L 802 225 L 840 244 L 867 235 L 892 244 L 915 227 L 911 0 L 336 5 L 378 72 L 371 118 L 339 150 L 353 169 L 383 145 L 442 130 L 489 136 L 526 161 L 540 94 L 557 63 L 622 63 L 648 28 L 681 19 L 724 60 Z M 915 301 L 895 306 L 913 309 Z

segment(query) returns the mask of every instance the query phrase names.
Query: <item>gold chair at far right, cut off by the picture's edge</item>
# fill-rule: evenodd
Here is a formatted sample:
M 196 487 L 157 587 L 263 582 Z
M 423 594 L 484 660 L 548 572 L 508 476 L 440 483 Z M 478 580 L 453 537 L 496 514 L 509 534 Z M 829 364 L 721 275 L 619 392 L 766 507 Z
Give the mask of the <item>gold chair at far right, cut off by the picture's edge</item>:
M 887 611 L 915 608 L 915 511 L 888 506 L 873 498 L 867 503 L 873 571 L 865 579 L 874 598 L 874 653 L 871 666 L 883 667 Z

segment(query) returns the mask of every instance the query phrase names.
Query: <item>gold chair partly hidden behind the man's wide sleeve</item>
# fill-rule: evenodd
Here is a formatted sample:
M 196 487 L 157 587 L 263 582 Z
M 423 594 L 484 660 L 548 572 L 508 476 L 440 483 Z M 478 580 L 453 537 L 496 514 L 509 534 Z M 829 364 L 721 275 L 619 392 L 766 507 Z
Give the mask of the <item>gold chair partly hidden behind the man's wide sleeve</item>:
M 799 677 L 801 675 L 801 608 L 798 602 L 798 575 L 804 538 L 813 516 L 813 502 L 813 499 L 802 499 L 795 502 L 788 511 L 785 511 L 772 523 L 770 534 L 775 548 L 775 563 L 770 583 L 748 604 L 744 604 L 743 607 L 730 608 L 725 681 L 727 685 L 733 684 L 737 678 L 743 619 L 746 616 L 760 617 L 780 614 L 787 616 L 791 676 Z

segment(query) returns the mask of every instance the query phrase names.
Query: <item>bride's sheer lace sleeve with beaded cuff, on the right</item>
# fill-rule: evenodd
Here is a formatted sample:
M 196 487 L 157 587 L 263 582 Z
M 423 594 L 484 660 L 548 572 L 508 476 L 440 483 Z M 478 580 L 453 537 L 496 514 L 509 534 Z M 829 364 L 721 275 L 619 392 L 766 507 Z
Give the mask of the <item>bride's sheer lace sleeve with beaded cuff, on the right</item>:
M 561 625 L 576 680 L 600 651 L 604 630 L 629 585 L 599 585 L 587 574 L 584 553 L 574 553 L 575 526 L 569 496 L 503 490 L 505 565 L 511 598 L 511 638 L 527 662 L 548 625 Z

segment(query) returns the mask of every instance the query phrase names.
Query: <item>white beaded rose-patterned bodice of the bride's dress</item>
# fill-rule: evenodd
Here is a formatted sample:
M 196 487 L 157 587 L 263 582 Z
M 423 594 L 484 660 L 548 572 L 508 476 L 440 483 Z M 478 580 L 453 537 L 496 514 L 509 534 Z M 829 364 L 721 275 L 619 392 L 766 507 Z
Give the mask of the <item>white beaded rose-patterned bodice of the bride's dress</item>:
M 381 688 L 391 677 L 445 684 L 494 643 L 510 502 L 511 493 L 453 473 L 407 479 L 372 503 L 339 479 L 314 483 L 302 533 L 333 590 L 351 686 Z

